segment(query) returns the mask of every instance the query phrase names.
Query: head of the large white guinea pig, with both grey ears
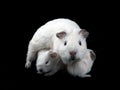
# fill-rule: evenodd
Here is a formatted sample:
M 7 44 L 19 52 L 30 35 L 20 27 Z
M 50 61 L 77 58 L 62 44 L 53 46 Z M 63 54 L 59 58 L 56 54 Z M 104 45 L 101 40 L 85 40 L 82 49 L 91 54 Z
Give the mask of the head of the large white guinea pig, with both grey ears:
M 58 53 L 64 64 L 81 60 L 87 51 L 86 38 L 89 32 L 85 29 L 73 31 L 70 34 L 66 32 L 57 33 L 56 36 L 60 39 Z

